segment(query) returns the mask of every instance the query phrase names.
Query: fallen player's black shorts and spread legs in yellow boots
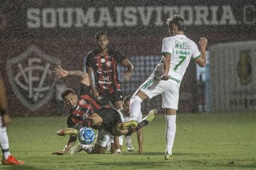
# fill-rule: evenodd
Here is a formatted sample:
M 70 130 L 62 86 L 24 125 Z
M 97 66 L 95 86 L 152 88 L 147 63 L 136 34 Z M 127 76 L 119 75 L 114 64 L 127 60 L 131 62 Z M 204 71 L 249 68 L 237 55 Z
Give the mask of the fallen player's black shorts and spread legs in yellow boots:
M 157 110 L 153 109 L 139 123 L 136 121 L 122 123 L 119 112 L 116 109 L 105 106 L 100 108 L 97 112 L 93 112 L 87 118 L 82 119 L 82 121 L 73 126 L 73 128 L 60 130 L 57 132 L 57 134 L 59 136 L 65 136 L 67 134 L 77 135 L 78 131 L 83 127 L 92 127 L 93 129 L 103 128 L 105 131 L 114 136 L 114 143 L 116 145 L 118 136 L 122 136 L 124 134 L 129 135 L 138 131 L 139 129 L 152 122 L 156 114 Z M 95 126 L 97 126 L 97 128 L 95 128 Z M 117 147 L 118 146 L 116 146 L 116 148 Z M 120 153 L 120 151 L 117 150 L 117 153 Z

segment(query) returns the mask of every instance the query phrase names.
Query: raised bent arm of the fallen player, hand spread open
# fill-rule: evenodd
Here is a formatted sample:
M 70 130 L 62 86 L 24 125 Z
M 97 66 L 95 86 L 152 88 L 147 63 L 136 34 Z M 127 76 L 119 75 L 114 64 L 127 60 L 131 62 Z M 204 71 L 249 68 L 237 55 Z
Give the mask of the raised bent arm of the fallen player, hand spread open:
M 66 76 L 78 76 L 82 79 L 81 83 L 86 86 L 90 86 L 90 81 L 87 73 L 81 72 L 79 70 L 65 70 L 60 66 L 54 68 L 53 73 L 58 77 L 66 77 Z

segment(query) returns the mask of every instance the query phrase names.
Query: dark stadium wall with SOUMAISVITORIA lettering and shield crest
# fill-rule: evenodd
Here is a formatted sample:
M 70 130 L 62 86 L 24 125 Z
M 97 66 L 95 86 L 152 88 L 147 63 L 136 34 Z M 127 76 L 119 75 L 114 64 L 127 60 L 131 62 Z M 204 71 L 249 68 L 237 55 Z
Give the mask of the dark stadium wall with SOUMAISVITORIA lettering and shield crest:
M 157 65 L 161 41 L 168 36 L 164 23 L 174 13 L 185 17 L 188 38 L 208 38 L 211 110 L 255 110 L 254 1 L 5 0 L 0 8 L 0 71 L 10 115 L 63 115 L 56 87 L 78 92 L 79 83 L 55 80 L 50 70 L 58 63 L 83 70 L 85 54 L 96 48 L 98 30 L 107 31 L 110 47 L 135 66 L 132 79 L 123 82 L 124 93 L 133 94 Z M 196 70 L 192 61 L 181 83 L 180 112 L 197 111 Z M 160 105 L 158 96 L 146 101 L 143 111 Z

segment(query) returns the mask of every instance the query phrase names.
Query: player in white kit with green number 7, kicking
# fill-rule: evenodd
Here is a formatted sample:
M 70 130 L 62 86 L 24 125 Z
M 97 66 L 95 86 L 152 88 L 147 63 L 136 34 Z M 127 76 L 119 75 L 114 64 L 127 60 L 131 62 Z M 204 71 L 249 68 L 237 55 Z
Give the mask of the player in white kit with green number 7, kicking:
M 184 35 L 185 22 L 180 15 L 167 19 L 170 37 L 163 40 L 161 58 L 152 75 L 136 91 L 131 98 L 131 120 L 138 121 L 141 103 L 147 97 L 161 94 L 162 107 L 166 119 L 166 151 L 165 159 L 173 160 L 172 146 L 176 133 L 176 111 L 178 110 L 179 88 L 186 68 L 193 58 L 200 67 L 205 66 L 207 39 L 200 38 L 201 53 L 195 42 Z

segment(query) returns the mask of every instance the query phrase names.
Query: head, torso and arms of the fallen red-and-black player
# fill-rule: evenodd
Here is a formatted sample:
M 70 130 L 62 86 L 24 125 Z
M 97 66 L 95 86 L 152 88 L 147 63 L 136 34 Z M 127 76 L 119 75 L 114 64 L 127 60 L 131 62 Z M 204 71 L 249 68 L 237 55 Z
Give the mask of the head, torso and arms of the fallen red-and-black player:
M 75 91 L 67 88 L 62 91 L 62 98 L 65 104 L 70 108 L 70 115 L 68 117 L 68 127 L 71 128 L 75 126 L 82 119 L 89 117 L 93 112 L 100 108 L 100 105 L 93 99 L 90 91 L 90 81 L 87 73 L 80 71 L 67 71 L 62 69 L 60 66 L 55 68 L 53 71 L 59 77 L 66 76 L 78 76 L 82 78 L 80 81 L 80 93 L 77 96 Z M 95 129 L 97 127 L 94 127 Z M 70 149 L 75 145 L 77 136 L 70 135 L 68 144 L 65 146 L 64 150 L 56 151 L 52 154 L 63 155 L 70 151 Z M 99 149 L 101 151 L 103 149 Z

